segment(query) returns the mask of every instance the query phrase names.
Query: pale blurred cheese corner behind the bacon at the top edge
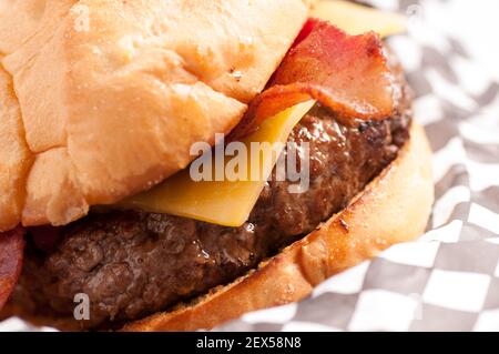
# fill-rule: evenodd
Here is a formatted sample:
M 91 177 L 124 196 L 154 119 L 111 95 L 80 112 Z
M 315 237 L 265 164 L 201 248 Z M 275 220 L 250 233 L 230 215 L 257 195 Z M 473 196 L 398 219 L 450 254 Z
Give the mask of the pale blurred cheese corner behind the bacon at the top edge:
M 312 17 L 326 20 L 348 34 L 377 32 L 381 38 L 406 31 L 406 18 L 398 13 L 379 11 L 343 0 L 318 2 Z

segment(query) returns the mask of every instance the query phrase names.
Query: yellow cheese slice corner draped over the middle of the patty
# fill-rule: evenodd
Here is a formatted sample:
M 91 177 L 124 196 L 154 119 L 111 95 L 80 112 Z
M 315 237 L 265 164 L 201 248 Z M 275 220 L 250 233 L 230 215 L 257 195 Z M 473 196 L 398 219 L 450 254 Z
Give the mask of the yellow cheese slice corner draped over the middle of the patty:
M 244 173 L 246 178 L 228 181 L 224 173 L 225 181 L 195 182 L 190 175 L 190 169 L 186 169 L 152 190 L 125 200 L 122 204 L 225 226 L 241 226 L 247 221 L 277 162 L 281 151 L 275 151 L 274 143 L 284 144 L 293 128 L 314 104 L 314 100 L 306 101 L 268 118 L 256 132 L 242 140 L 248 152 L 247 170 Z M 265 144 L 259 145 L 262 149 L 258 153 L 252 153 L 252 142 Z M 231 160 L 232 156 L 225 158 L 224 169 Z M 214 156 L 211 162 L 214 170 Z M 259 173 L 256 173 L 258 171 Z

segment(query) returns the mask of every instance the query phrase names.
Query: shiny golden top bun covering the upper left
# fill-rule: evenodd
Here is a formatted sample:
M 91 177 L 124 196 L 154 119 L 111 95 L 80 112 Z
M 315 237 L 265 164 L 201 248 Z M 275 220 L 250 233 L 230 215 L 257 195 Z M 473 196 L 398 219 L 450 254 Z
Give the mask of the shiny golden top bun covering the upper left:
M 240 122 L 309 2 L 0 0 L 0 230 L 63 225 L 184 169 Z

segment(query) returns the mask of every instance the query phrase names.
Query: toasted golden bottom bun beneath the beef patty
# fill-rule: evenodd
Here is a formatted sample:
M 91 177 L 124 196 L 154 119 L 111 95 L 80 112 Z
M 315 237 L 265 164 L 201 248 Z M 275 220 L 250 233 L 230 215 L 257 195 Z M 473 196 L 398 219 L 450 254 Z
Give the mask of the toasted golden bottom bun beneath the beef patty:
M 195 304 L 131 323 L 124 331 L 212 328 L 251 311 L 299 301 L 328 276 L 419 236 L 434 201 L 431 152 L 420 127 L 414 124 L 410 133 L 397 160 L 318 230 Z

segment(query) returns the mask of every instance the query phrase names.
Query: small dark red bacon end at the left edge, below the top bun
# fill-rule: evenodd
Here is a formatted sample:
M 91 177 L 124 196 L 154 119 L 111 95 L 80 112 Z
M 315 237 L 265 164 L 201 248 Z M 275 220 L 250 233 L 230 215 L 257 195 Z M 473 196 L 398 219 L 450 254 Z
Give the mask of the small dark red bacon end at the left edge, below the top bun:
M 23 251 L 24 230 L 22 227 L 0 234 L 0 310 L 18 283 Z

